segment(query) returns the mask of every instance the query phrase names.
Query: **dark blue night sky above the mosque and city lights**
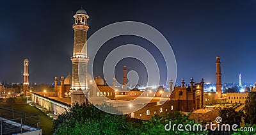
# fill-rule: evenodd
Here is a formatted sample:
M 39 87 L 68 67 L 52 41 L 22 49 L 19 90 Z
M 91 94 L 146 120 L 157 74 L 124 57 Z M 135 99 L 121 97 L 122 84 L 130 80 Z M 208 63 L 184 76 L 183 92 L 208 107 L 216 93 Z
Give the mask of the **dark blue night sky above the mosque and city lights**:
M 22 83 L 24 58 L 29 59 L 30 83 L 53 83 L 55 76 L 67 76 L 72 71 L 73 15 L 81 6 L 90 16 L 88 37 L 108 24 L 125 20 L 143 22 L 160 31 L 177 60 L 177 84 L 182 78 L 188 83 L 191 77 L 215 83 L 216 56 L 221 58 L 223 83 L 238 83 L 239 74 L 243 83 L 256 81 L 256 1 L 176 0 L 1 1 L 0 82 Z M 147 41 L 131 36 L 113 38 L 106 45 L 131 43 L 154 51 Z M 109 51 L 106 47 L 100 56 Z M 154 56 L 163 64 L 157 51 Z M 122 79 L 122 65 L 143 75 L 145 67 L 140 64 L 130 59 L 120 61 L 117 80 Z M 101 75 L 98 68 L 96 74 Z

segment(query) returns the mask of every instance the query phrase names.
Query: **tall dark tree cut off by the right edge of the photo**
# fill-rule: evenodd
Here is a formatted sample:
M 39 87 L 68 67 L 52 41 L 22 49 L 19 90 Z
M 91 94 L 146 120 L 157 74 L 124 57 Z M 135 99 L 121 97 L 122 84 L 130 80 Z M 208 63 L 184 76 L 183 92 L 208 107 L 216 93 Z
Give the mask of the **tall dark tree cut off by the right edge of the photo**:
M 244 102 L 245 122 L 256 124 L 256 92 L 249 92 L 247 99 Z

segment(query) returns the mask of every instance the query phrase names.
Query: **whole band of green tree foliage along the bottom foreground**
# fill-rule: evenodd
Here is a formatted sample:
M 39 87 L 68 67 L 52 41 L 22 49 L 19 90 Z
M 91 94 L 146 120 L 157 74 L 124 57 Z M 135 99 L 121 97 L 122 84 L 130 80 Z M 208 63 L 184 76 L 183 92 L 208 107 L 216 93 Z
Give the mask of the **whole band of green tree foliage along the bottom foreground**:
M 103 104 L 99 107 L 112 106 Z M 117 112 L 117 111 L 116 111 Z M 206 134 L 207 132 L 187 132 L 175 130 L 165 131 L 164 125 L 172 121 L 172 124 L 187 123 L 193 125 L 196 122 L 189 120 L 187 115 L 180 112 L 166 115 L 155 115 L 148 121 L 129 118 L 125 115 L 113 115 L 101 111 L 93 105 L 76 104 L 70 111 L 58 116 L 53 123 L 54 134 Z M 183 127 L 184 129 L 184 127 Z

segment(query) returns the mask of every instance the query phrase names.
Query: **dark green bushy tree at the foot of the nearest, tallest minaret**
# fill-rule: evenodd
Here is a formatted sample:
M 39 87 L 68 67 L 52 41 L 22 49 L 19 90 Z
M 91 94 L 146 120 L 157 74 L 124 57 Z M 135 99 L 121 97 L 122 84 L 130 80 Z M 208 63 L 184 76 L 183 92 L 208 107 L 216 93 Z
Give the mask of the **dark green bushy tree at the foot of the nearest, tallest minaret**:
M 109 107 L 103 104 L 98 107 Z M 54 134 L 138 134 L 132 127 L 136 123 L 127 122 L 124 115 L 113 115 L 101 111 L 92 104 L 72 106 L 70 111 L 58 116 L 53 123 Z

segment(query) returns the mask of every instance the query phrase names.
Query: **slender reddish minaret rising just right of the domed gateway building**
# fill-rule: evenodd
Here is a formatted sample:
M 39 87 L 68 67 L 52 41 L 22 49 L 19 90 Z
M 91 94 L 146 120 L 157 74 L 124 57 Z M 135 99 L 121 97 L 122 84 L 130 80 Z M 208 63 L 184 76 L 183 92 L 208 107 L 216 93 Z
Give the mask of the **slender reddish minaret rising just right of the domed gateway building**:
M 222 98 L 221 93 L 221 70 L 220 70 L 220 57 L 216 57 L 216 92 L 218 92 L 218 99 Z

